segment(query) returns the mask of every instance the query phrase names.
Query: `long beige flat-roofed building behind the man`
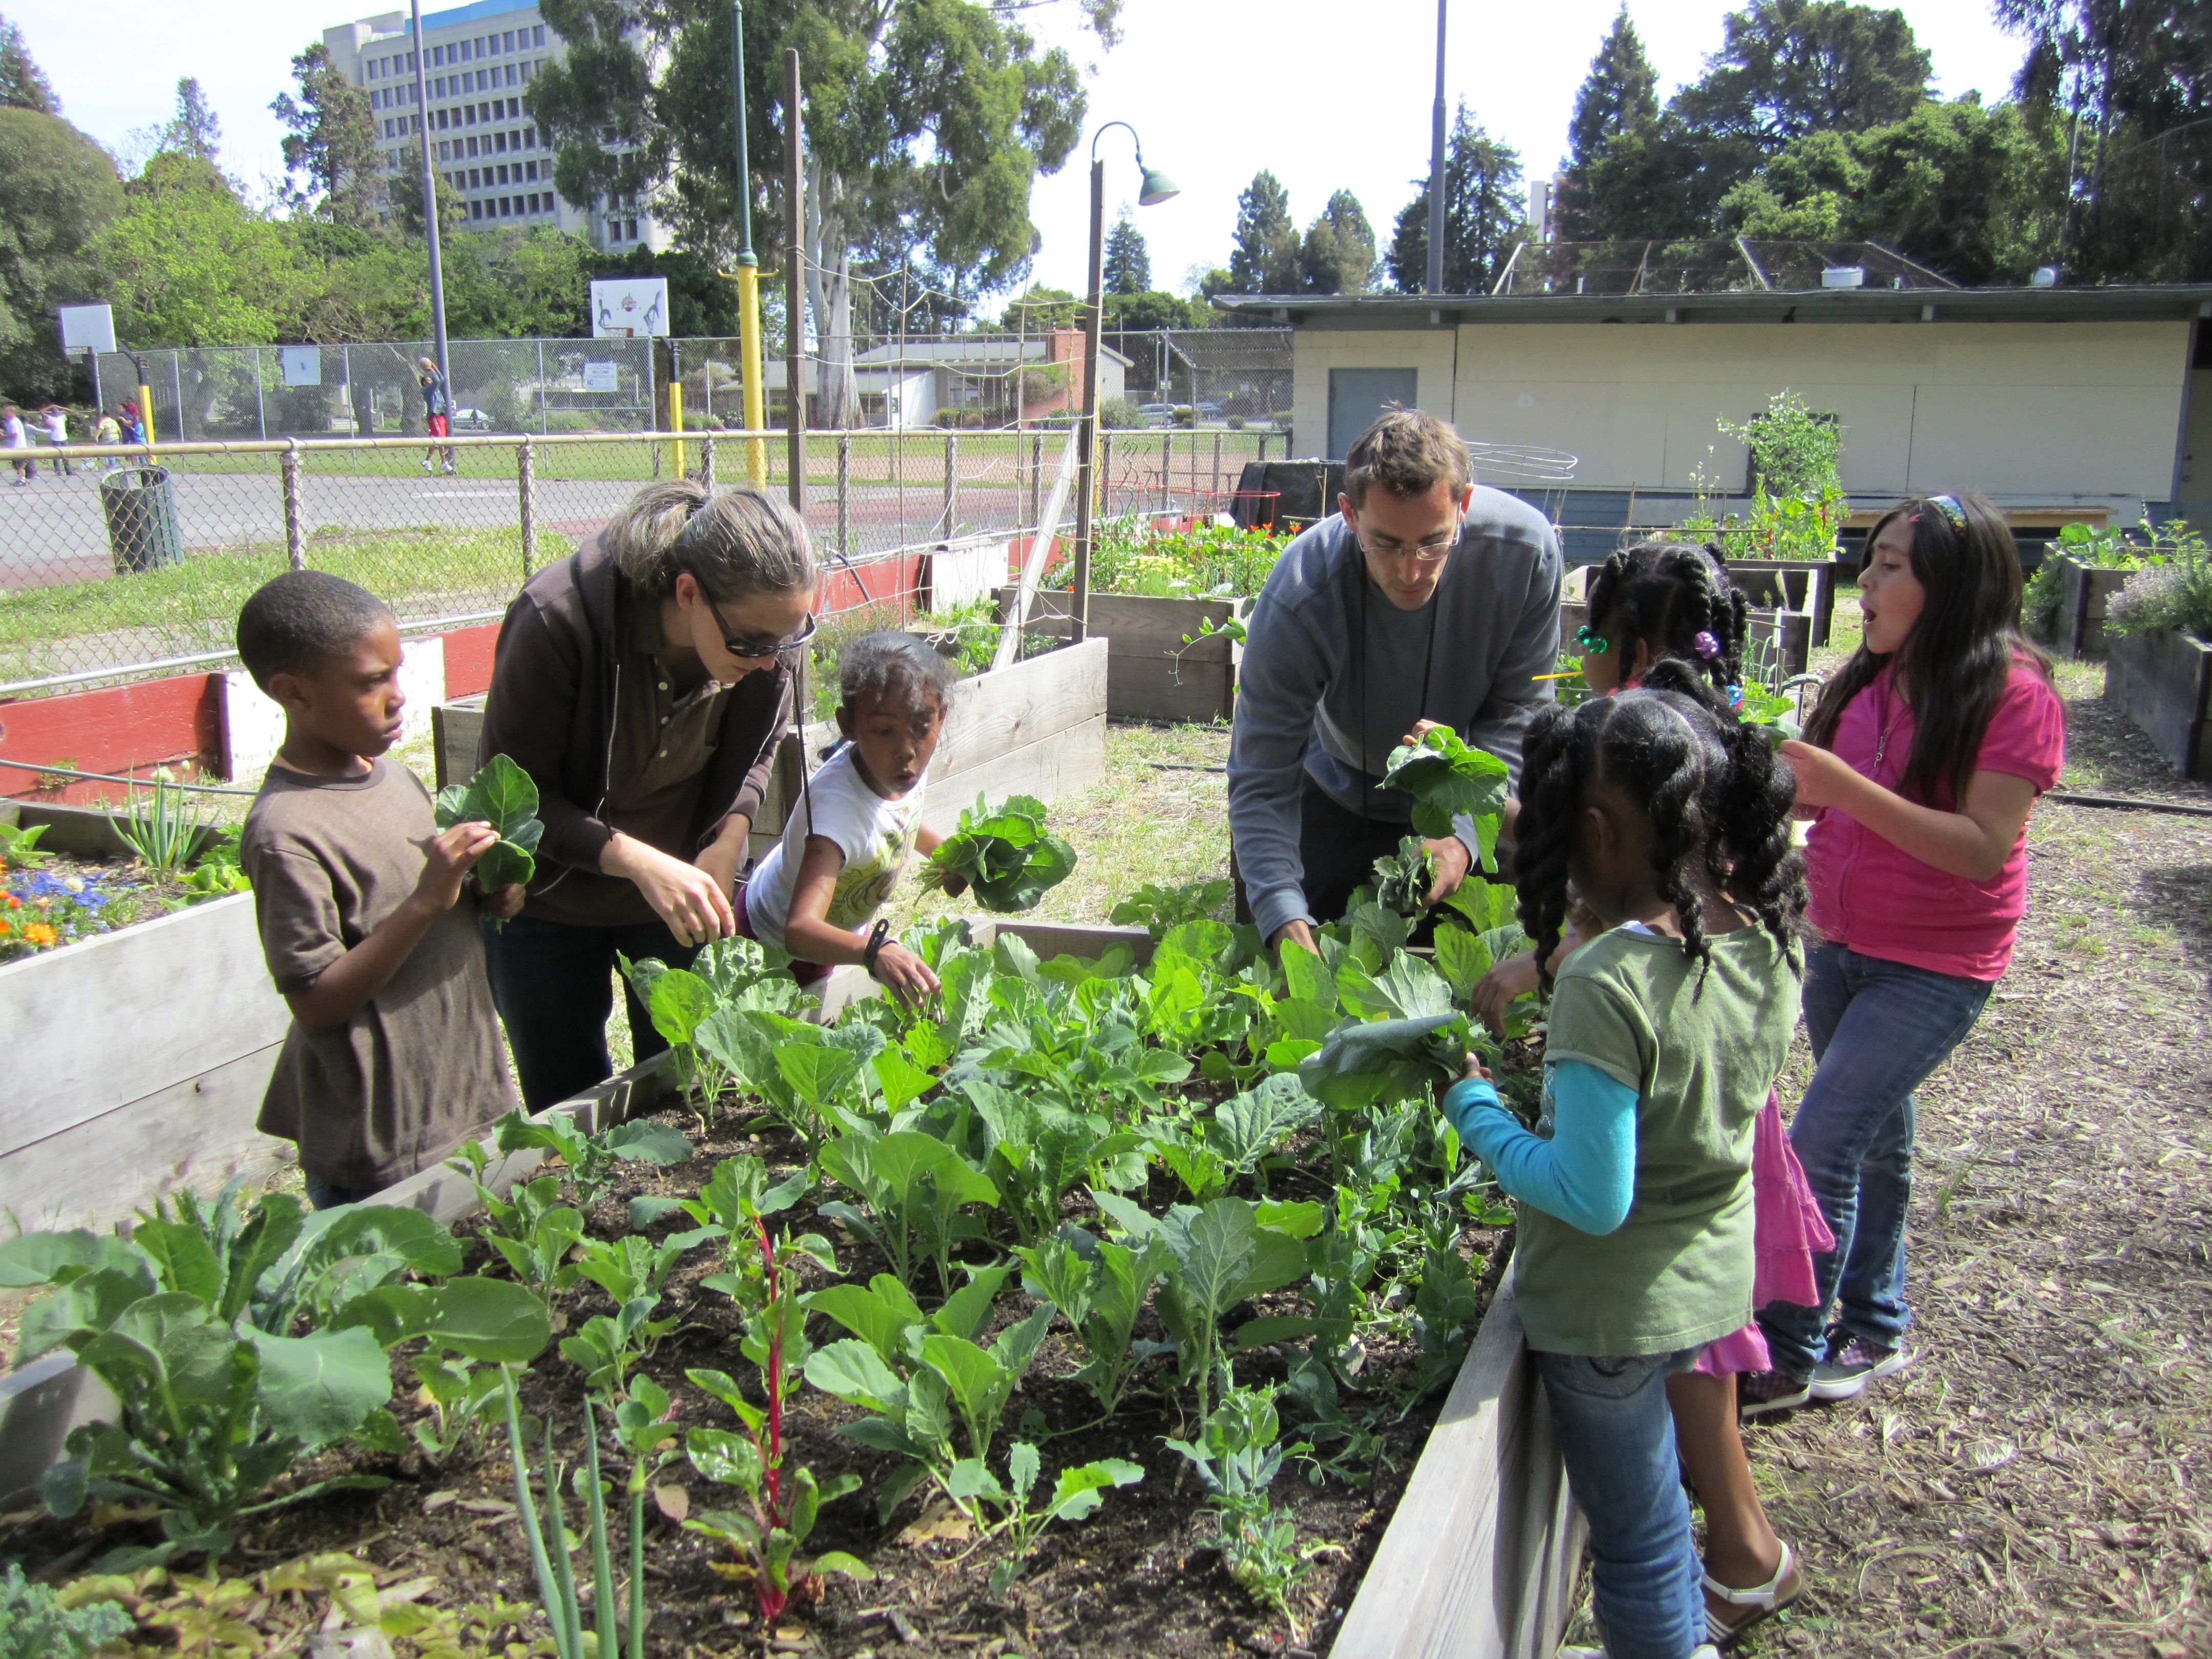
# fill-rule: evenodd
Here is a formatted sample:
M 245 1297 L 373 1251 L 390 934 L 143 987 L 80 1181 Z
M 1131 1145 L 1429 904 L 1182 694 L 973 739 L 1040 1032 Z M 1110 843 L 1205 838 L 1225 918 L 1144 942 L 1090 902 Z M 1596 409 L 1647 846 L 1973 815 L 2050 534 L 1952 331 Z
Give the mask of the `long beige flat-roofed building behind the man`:
M 1340 458 L 1411 403 L 1471 440 L 1579 456 L 1575 491 L 1703 476 L 1741 498 L 1747 456 L 1719 422 L 1787 389 L 1843 420 L 1845 489 L 1867 504 L 1973 489 L 2212 520 L 2212 285 L 1221 303 L 1292 325 L 1301 456 Z

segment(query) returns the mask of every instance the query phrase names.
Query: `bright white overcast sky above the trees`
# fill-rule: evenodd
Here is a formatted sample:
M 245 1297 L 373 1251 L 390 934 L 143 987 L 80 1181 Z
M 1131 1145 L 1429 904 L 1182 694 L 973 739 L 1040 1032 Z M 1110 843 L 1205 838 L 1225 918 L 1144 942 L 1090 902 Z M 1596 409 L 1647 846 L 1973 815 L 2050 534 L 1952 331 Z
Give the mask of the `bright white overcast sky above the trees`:
M 1455 0 L 1447 95 L 1548 173 L 1566 148 L 1566 119 L 1617 0 Z M 281 128 L 268 104 L 290 88 L 290 60 L 343 9 L 279 0 L 0 0 L 53 80 L 62 113 L 111 148 L 168 117 L 179 75 L 197 75 L 223 122 L 223 164 L 248 186 L 283 170 Z M 1659 69 L 1661 95 L 1692 80 L 1721 42 L 1723 0 L 1630 0 Z M 1936 86 L 1955 97 L 2004 95 L 2022 46 L 1991 22 L 1984 0 L 1900 0 L 1936 58 Z M 1057 13 L 1057 15 L 1055 15 Z M 356 15 L 369 15 L 363 9 Z M 1099 51 L 1075 31 L 1075 7 L 1029 13 L 1040 35 L 1091 66 L 1091 126 L 1130 122 L 1146 159 L 1181 195 L 1137 210 L 1157 288 L 1179 290 L 1192 268 L 1228 263 L 1237 195 L 1259 168 L 1290 188 L 1301 226 L 1332 190 L 1349 188 L 1378 241 L 1429 157 L 1433 0 L 1126 0 L 1124 38 Z M 1358 29 L 1347 29 L 1358 20 Z M 1044 234 L 1037 281 L 1084 285 L 1088 142 L 1057 177 L 1040 179 L 1033 217 Z M 1126 133 L 1108 133 L 1106 217 L 1135 204 Z

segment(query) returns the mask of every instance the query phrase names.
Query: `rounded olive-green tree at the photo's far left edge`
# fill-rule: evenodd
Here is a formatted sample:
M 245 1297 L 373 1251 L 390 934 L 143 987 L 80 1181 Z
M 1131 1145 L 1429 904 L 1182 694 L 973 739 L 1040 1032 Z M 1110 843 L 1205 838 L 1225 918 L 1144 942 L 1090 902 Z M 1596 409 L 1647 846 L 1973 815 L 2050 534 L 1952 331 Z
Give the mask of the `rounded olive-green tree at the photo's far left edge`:
M 0 108 L 0 385 L 64 396 L 58 305 L 97 301 L 91 243 L 124 206 L 115 164 L 60 115 Z

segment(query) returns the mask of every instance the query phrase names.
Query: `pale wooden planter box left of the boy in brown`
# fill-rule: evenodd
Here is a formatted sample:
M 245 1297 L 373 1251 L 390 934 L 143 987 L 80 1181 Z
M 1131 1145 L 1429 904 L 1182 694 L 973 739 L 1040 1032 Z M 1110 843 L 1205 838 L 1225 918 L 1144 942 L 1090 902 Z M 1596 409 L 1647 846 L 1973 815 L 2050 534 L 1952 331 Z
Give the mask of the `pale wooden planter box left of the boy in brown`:
M 0 967 L 0 1219 L 102 1225 L 272 1168 L 285 1144 L 254 1117 L 290 1022 L 252 894 Z

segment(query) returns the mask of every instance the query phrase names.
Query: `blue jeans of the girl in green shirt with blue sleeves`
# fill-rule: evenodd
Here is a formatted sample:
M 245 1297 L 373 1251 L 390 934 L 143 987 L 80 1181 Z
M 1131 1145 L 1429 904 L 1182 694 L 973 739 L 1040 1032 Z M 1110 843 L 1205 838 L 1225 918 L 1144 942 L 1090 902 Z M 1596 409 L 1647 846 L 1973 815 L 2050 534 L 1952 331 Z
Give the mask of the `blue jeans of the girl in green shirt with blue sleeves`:
M 1688 1659 L 1705 1639 L 1705 1571 L 1666 1402 L 1666 1380 L 1697 1354 L 1535 1356 L 1566 1484 L 1590 1522 L 1590 1588 L 1610 1659 Z

